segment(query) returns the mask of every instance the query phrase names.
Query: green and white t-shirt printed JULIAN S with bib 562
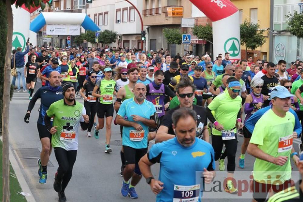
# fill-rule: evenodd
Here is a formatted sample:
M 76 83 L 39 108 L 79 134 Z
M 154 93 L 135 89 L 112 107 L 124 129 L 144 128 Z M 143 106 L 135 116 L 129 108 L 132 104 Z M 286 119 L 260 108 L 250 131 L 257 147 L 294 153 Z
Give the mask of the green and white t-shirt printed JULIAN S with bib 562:
M 86 114 L 83 105 L 78 101 L 74 105 L 67 105 L 62 99 L 51 104 L 46 114 L 54 117 L 53 126 L 57 126 L 56 134 L 52 135 L 52 146 L 67 151 L 78 150 L 78 127 L 80 121 L 84 121 L 82 115 Z

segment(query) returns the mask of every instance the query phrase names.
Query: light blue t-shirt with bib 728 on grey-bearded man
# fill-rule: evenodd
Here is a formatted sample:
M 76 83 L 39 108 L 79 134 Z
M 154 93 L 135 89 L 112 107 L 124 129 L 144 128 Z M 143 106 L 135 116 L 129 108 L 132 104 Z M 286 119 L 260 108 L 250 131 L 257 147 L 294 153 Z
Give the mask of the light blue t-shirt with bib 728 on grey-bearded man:
M 130 98 L 122 102 L 118 111 L 118 115 L 123 117 L 126 121 L 135 122 L 132 118 L 132 115 L 150 119 L 150 117 L 154 115 L 155 112 L 155 106 L 150 101 L 144 100 L 142 104 L 138 104 L 135 102 L 134 98 Z M 135 149 L 147 148 L 148 126 L 143 124 L 141 121 L 137 121 L 137 123 L 140 124 L 144 130 L 143 139 L 141 141 L 138 141 L 138 139 L 142 137 L 142 134 L 138 135 L 137 133 L 134 135 L 134 131 L 136 130 L 134 127 L 123 126 L 122 145 Z

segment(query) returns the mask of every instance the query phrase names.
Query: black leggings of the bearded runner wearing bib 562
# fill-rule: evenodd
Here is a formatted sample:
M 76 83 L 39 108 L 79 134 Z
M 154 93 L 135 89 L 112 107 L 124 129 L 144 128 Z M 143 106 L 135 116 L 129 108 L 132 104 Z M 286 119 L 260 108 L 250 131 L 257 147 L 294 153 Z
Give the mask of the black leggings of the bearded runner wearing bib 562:
M 62 191 L 65 190 L 72 178 L 72 170 L 77 157 L 77 150 L 66 151 L 61 147 L 55 147 L 55 156 L 58 161 L 57 180 L 62 180 Z

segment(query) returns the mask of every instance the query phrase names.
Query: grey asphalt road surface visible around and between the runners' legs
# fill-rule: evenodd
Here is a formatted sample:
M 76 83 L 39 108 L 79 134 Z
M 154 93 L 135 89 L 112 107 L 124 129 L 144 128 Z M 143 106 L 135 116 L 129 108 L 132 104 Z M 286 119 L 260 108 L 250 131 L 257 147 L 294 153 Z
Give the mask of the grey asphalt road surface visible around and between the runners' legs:
M 41 84 L 37 84 L 37 88 Z M 83 103 L 83 100 L 77 98 L 78 101 Z M 50 156 L 50 162 L 53 167 L 48 166 L 48 179 L 47 184 L 39 184 L 38 166 L 35 163 L 37 155 L 20 160 L 20 154 L 16 149 L 38 148 L 41 151 L 41 143 L 37 131 L 38 107 L 40 101 L 37 101 L 35 108 L 32 110 L 30 122 L 24 122 L 24 116 L 28 107 L 28 93 L 17 93 L 15 91 L 10 105 L 9 116 L 9 131 L 10 131 L 10 146 L 14 150 L 14 155 L 22 170 L 26 182 L 36 201 L 58 201 L 58 195 L 53 189 L 54 174 L 57 170 L 58 164 L 55 159 L 54 153 Z M 240 154 L 241 144 L 243 137 L 238 137 L 237 156 Z M 132 201 L 128 197 L 122 197 L 120 188 L 123 178 L 120 176 L 119 171 L 121 167 L 120 148 L 121 137 L 119 127 L 112 124 L 112 140 L 111 147 L 113 152 L 105 154 L 105 128 L 100 131 L 100 139 L 96 140 L 94 137 L 86 137 L 84 131 L 80 131 L 78 137 L 78 154 L 74 165 L 72 179 L 65 190 L 68 201 Z M 299 141 L 294 141 L 294 147 L 298 151 Z M 152 144 L 151 144 L 152 145 Z M 37 149 L 34 149 L 37 151 Z M 25 151 L 25 150 L 21 150 Z M 22 152 L 21 152 L 22 153 Z M 37 152 L 36 152 L 37 153 Z M 23 154 L 25 154 L 23 152 Z M 22 163 L 27 162 L 27 163 Z M 225 160 L 225 164 L 227 159 Z M 254 158 L 246 154 L 245 156 L 245 169 L 236 167 L 236 178 L 247 178 L 253 169 Z M 27 167 L 26 164 L 30 165 Z M 238 160 L 236 160 L 238 165 Z M 292 163 L 293 165 L 293 163 Z M 225 172 L 218 171 L 218 162 L 216 162 L 218 180 L 224 180 Z M 294 167 L 294 166 L 293 166 Z M 176 168 L 178 169 L 178 168 Z M 297 171 L 294 167 L 293 171 Z M 159 173 L 159 165 L 152 166 L 152 172 L 157 178 Z M 294 172 L 294 180 L 298 180 L 298 172 Z M 222 180 L 222 182 L 223 182 Z M 139 198 L 136 201 L 155 201 L 155 194 L 150 190 L 145 179 L 142 179 L 136 186 L 136 191 Z M 227 194 L 225 191 L 209 192 L 205 195 L 208 199 L 203 201 L 251 201 L 251 193 L 247 191 L 246 199 L 240 198 L 238 195 Z M 216 199 L 214 199 L 216 198 Z

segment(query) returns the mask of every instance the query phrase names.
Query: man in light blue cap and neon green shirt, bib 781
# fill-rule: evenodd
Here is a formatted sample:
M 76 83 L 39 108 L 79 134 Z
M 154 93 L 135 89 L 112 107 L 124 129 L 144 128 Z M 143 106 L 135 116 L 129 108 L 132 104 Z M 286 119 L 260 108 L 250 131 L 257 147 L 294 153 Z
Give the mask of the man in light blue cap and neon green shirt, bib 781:
M 248 154 L 256 157 L 253 201 L 265 201 L 270 188 L 277 192 L 291 186 L 290 157 L 294 157 L 291 149 L 295 116 L 289 108 L 293 96 L 283 86 L 274 87 L 271 90 L 272 109 L 255 125 L 247 148 Z

